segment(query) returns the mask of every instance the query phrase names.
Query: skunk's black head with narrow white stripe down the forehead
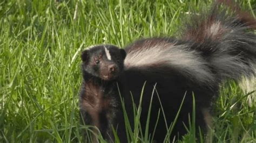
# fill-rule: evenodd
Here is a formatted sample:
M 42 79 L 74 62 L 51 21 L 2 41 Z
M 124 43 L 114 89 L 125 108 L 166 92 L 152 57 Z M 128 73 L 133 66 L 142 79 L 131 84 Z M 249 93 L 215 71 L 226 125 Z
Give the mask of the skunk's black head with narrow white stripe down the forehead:
M 82 70 L 105 81 L 117 78 L 124 68 L 126 53 L 113 45 L 91 46 L 82 52 Z

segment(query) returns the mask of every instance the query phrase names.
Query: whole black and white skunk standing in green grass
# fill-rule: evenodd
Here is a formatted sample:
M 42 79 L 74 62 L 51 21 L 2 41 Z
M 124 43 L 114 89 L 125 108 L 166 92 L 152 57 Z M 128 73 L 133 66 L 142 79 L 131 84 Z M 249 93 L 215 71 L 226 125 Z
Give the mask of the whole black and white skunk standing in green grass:
M 133 103 L 138 107 L 142 95 L 142 130 L 151 104 L 149 133 L 163 142 L 184 98 L 171 134 L 177 139 L 187 132 L 194 95 L 196 125 L 206 130 L 221 81 L 253 76 L 256 69 L 256 20 L 235 6 L 228 12 L 220 3 L 232 5 L 219 1 L 204 15 L 193 15 L 178 37 L 140 39 L 125 51 L 113 45 L 86 48 L 79 95 L 85 124 L 96 126 L 93 131 L 110 142 L 113 127 L 127 142 L 121 99 L 133 127 Z

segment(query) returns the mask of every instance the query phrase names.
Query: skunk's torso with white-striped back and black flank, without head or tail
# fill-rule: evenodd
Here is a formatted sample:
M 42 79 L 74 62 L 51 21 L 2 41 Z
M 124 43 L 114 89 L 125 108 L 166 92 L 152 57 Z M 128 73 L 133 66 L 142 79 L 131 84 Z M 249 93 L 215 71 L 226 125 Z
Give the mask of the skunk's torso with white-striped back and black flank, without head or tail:
M 139 52 L 136 52 L 138 47 Z M 218 94 L 216 92 L 218 84 L 215 75 L 211 73 L 211 68 L 207 65 L 207 61 L 200 56 L 199 52 L 191 49 L 190 45 L 184 44 L 183 41 L 173 38 L 139 40 L 125 49 L 127 56 L 124 62 L 123 80 L 121 81 L 124 90 L 122 90 L 121 95 L 124 96 L 126 112 L 132 115 L 133 110 L 129 108 L 132 106 L 131 94 L 135 104 L 138 105 L 145 83 L 142 115 L 140 117 L 142 128 L 145 128 L 149 105 L 153 96 L 150 133 L 153 133 L 159 116 L 154 139 L 163 142 L 167 128 L 170 127 L 176 117 L 182 99 L 186 95 L 171 137 L 176 135 L 177 138 L 177 133 L 179 135 L 185 134 L 187 131 L 184 124 L 188 126 L 188 113 L 192 115 L 193 94 L 196 99 L 196 124 L 201 127 L 205 126 L 202 111 L 209 108 L 211 98 Z M 135 61 L 138 65 L 132 64 Z M 153 92 L 155 85 L 156 90 Z M 133 117 L 130 119 L 131 122 L 132 119 Z

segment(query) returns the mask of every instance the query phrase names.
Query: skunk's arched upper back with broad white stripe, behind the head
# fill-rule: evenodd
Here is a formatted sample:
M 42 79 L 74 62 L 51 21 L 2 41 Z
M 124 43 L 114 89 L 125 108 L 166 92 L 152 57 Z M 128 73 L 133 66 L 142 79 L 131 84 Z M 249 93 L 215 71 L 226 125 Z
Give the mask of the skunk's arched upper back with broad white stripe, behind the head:
M 169 76 L 172 71 L 176 71 L 198 84 L 211 85 L 214 82 L 214 75 L 200 52 L 177 39 L 142 39 L 125 50 L 125 70 L 138 69 L 159 77 Z

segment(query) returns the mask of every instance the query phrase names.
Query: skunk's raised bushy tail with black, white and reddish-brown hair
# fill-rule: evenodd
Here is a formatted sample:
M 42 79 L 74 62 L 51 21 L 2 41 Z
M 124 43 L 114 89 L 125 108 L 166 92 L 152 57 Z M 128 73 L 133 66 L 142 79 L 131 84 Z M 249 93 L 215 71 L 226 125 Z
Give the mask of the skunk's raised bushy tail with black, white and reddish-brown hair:
M 218 1 L 208 13 L 194 15 L 185 25 L 181 39 L 205 56 L 220 80 L 255 75 L 256 20 L 249 13 L 231 1 Z

